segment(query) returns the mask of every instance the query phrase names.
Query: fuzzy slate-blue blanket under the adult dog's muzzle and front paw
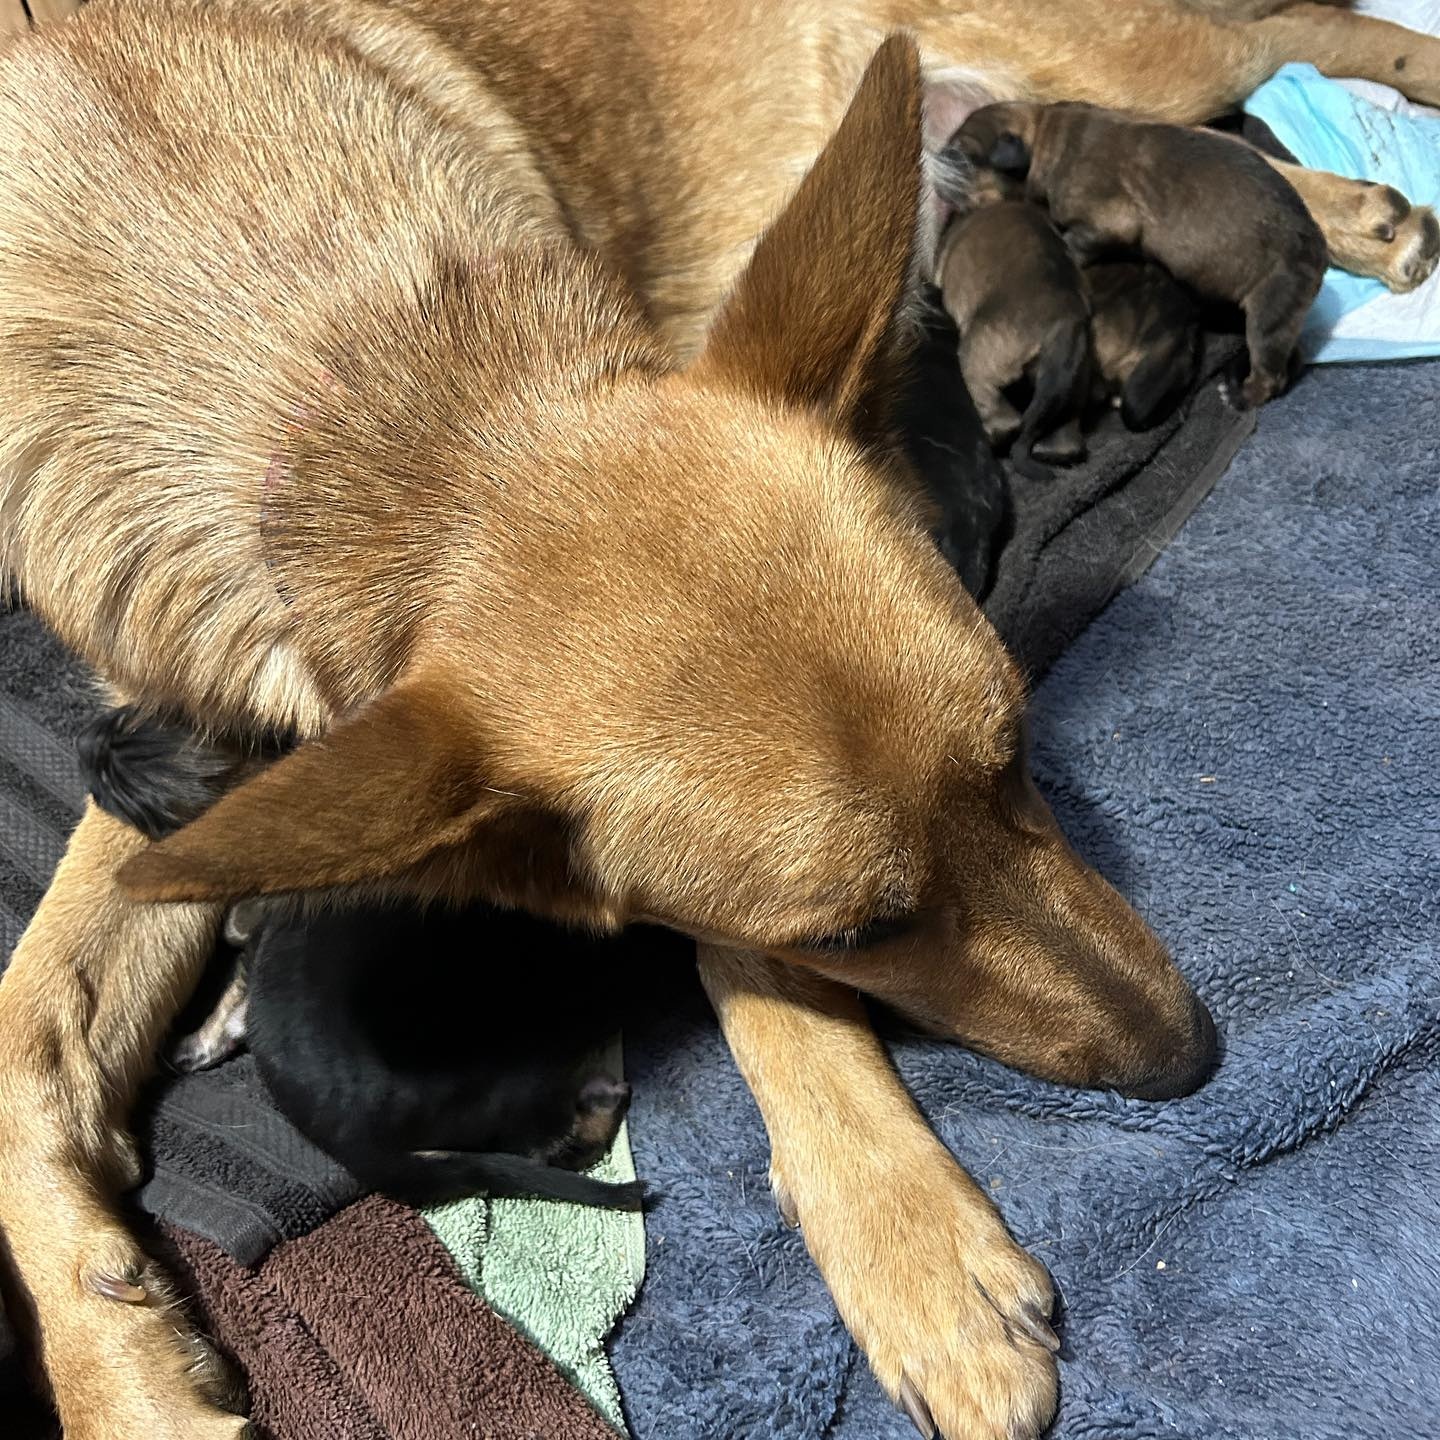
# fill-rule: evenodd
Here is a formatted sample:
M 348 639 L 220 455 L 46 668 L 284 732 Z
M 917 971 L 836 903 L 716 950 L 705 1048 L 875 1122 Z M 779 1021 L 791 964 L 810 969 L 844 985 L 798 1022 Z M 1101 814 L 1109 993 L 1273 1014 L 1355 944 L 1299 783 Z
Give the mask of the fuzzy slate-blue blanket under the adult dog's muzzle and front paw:
M 1153 1104 L 894 1043 L 1056 1277 L 1054 1440 L 1436 1433 L 1437 387 L 1302 379 L 1035 696 L 1038 780 L 1214 1009 L 1215 1079 Z M 913 1440 L 775 1214 L 698 991 L 626 1066 L 662 1194 L 611 1346 L 636 1440 Z

